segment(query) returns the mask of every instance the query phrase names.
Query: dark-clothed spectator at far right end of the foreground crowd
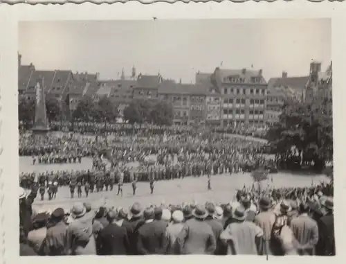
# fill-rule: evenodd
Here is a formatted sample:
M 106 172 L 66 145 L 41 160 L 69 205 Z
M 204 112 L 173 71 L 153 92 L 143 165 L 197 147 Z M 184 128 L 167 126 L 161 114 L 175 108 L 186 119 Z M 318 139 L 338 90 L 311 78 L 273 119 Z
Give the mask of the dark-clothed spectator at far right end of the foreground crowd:
M 334 200 L 327 197 L 322 206 L 326 214 L 318 220 L 318 243 L 316 245 L 316 255 L 335 256 L 335 235 L 334 235 Z

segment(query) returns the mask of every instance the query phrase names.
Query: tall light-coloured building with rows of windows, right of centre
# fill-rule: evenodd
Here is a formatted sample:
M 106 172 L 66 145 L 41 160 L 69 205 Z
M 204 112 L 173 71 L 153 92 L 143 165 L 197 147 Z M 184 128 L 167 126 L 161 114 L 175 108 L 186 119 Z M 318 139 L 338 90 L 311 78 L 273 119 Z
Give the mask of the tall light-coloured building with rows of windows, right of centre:
M 211 81 L 222 97 L 221 125 L 264 124 L 266 80 L 262 70 L 217 67 Z

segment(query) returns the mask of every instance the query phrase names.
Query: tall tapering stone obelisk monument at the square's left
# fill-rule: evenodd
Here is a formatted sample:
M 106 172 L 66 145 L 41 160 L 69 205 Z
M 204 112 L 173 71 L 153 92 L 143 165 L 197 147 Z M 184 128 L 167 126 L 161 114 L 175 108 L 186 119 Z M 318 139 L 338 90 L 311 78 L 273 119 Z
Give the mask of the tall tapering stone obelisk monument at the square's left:
M 44 95 L 44 79 L 40 76 L 35 87 L 36 106 L 35 106 L 35 123 L 33 127 L 34 135 L 45 135 L 51 128 L 48 124 L 46 112 L 46 98 Z

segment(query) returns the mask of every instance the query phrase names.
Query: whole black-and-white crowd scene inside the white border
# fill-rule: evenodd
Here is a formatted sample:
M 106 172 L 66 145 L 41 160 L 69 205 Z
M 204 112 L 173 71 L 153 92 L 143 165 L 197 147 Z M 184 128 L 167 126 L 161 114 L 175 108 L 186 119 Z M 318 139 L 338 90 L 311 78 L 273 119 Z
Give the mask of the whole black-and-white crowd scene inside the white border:
M 331 19 L 18 27 L 20 256 L 336 255 Z

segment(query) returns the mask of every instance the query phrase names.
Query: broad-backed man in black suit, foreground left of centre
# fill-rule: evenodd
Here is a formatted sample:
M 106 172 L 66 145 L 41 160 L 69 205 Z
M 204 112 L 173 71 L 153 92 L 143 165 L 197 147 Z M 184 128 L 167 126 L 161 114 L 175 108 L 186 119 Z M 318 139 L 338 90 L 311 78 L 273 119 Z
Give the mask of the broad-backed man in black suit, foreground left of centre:
M 116 211 L 107 213 L 109 225 L 102 229 L 96 240 L 98 255 L 127 255 L 129 254 L 129 238 L 125 227 L 116 224 Z

